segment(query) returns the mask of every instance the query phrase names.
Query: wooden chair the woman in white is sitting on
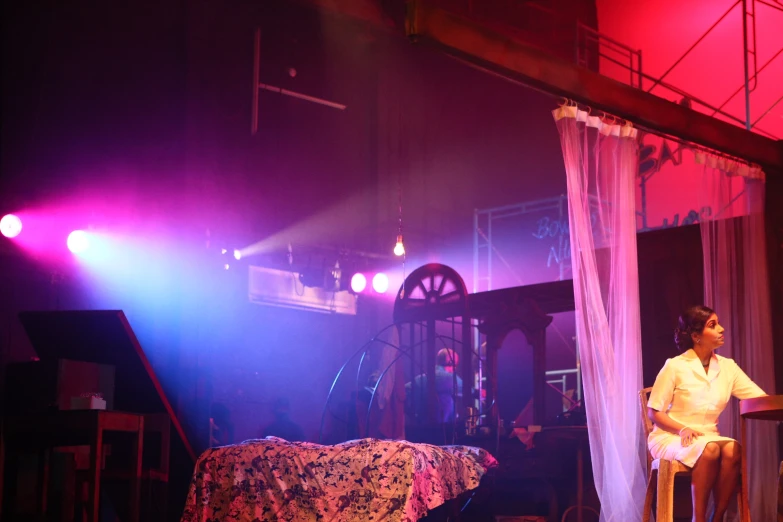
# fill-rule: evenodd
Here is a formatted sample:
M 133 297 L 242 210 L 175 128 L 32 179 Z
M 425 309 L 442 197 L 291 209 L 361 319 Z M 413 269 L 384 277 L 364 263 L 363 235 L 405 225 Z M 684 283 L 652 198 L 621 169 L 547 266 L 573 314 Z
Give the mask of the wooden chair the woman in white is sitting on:
M 647 401 L 650 398 L 652 388 L 645 388 L 639 392 L 639 406 L 641 407 L 642 424 L 644 426 L 644 440 L 647 443 L 647 437 L 653 429 L 652 421 L 647 417 Z M 647 494 L 644 497 L 644 511 L 642 512 L 642 522 L 650 522 L 652 516 L 653 497 L 656 494 L 655 515 L 657 522 L 673 522 L 674 520 L 674 478 L 677 475 L 690 475 L 691 468 L 678 460 L 653 459 L 649 450 L 647 451 Z M 742 509 L 747 504 L 744 498 L 742 488 L 737 488 L 737 504 L 740 515 L 744 513 Z M 741 518 L 741 522 L 750 522 L 750 519 Z M 721 521 L 722 522 L 722 521 Z

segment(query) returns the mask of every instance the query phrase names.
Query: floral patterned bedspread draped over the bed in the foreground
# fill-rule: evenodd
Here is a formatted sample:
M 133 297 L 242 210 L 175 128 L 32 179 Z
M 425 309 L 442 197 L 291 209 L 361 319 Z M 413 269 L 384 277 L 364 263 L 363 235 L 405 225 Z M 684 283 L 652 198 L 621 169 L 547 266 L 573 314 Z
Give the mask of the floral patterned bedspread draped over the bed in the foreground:
M 250 440 L 201 455 L 182 522 L 414 522 L 496 465 L 469 446 Z

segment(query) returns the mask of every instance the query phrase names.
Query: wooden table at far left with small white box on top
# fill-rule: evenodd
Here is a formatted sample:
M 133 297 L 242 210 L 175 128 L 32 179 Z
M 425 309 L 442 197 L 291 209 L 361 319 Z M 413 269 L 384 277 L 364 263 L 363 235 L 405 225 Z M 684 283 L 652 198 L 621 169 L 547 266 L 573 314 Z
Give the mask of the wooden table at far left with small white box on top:
M 89 444 L 89 505 L 90 522 L 100 520 L 100 486 L 104 432 L 133 434 L 132 470 L 130 473 L 130 522 L 139 520 L 139 493 L 141 488 L 141 458 L 144 447 L 144 416 L 105 410 L 55 411 L 40 415 L 8 417 L 3 423 L 6 461 L 19 450 L 48 451 L 58 446 Z M 46 511 L 46 479 L 48 465 L 42 463 L 43 477 L 39 477 L 41 512 Z M 5 472 L 0 468 L 0 474 Z M 10 500 L 10 499 L 9 499 Z

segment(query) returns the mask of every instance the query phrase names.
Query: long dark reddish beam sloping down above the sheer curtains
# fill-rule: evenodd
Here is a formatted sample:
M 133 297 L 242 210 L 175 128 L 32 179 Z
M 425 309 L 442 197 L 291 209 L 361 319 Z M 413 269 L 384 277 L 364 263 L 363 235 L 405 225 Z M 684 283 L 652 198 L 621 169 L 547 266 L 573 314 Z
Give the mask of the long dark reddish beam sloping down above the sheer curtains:
M 543 53 L 456 14 L 414 0 L 408 36 L 469 63 L 641 127 L 783 174 L 783 141 L 772 140 Z

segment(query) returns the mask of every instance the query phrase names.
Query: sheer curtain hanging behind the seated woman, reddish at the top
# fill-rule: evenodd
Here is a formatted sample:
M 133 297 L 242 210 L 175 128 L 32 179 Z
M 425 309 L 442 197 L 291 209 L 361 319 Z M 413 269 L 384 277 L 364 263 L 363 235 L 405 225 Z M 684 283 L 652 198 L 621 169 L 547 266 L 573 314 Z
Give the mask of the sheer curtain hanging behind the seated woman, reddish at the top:
M 704 300 L 726 327 L 721 355 L 734 359 L 761 388 L 775 393 L 769 279 L 764 230 L 764 174 L 703 153 L 700 191 L 704 251 Z M 722 434 L 739 440 L 739 407 L 721 415 Z M 751 421 L 748 472 L 753 520 L 775 520 L 777 455 L 775 423 Z

